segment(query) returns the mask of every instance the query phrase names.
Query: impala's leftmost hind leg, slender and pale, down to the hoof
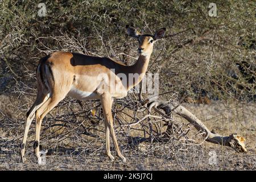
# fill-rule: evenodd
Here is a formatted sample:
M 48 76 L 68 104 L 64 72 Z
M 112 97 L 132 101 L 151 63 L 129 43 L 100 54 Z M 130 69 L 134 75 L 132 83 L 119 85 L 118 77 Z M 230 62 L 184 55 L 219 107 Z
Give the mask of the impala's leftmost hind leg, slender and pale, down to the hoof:
M 26 146 L 26 141 L 27 141 L 27 134 L 28 130 L 30 128 L 31 122 L 35 117 L 35 111 L 39 109 L 40 106 L 44 104 L 48 100 L 49 96 L 43 93 L 38 92 L 36 96 L 36 101 L 32 105 L 31 109 L 27 112 L 27 117 L 26 117 L 26 123 L 25 123 L 25 131 L 22 139 L 22 143 L 20 145 L 21 151 L 20 151 L 20 160 L 24 163 L 26 162 L 25 158 L 25 146 Z

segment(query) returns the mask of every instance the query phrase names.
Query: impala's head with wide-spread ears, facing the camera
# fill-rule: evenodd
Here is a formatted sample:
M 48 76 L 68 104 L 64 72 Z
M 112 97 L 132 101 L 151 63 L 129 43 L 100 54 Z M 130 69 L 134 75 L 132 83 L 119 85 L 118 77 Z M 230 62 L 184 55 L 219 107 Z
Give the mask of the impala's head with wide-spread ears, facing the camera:
M 160 28 L 155 32 L 154 35 L 140 34 L 134 27 L 126 26 L 126 28 L 127 28 L 128 35 L 138 39 L 138 42 L 139 42 L 138 53 L 139 55 L 143 55 L 143 56 L 151 55 L 155 41 L 158 39 L 162 39 L 164 36 L 164 33 L 166 32 L 166 28 Z

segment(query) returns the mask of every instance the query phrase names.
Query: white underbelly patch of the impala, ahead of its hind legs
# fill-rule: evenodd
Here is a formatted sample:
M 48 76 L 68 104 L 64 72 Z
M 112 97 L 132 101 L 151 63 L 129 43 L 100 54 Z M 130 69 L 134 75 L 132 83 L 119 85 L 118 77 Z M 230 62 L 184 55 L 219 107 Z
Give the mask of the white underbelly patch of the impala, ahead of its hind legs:
M 93 92 L 84 92 L 72 86 L 71 90 L 68 92 L 68 96 L 76 98 L 78 100 L 86 99 L 98 99 L 100 98 L 96 93 Z

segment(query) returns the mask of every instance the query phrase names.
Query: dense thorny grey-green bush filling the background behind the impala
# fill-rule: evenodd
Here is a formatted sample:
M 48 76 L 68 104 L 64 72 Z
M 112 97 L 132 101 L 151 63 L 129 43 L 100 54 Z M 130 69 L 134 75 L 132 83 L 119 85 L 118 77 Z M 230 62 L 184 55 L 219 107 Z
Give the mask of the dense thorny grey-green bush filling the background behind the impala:
M 5 0 L 0 5 L 1 92 L 15 83 L 12 77 L 33 84 L 24 70 L 35 70 L 39 58 L 51 50 L 134 63 L 137 43 L 125 30 L 126 24 L 134 24 L 141 32 L 167 28 L 152 58 L 163 52 L 150 69 L 160 74 L 162 92 L 211 100 L 255 99 L 252 2 L 216 2 L 217 17 L 208 16 L 210 1 L 53 1 L 46 2 L 46 17 L 37 16 L 38 3 Z M 60 39 L 65 34 L 64 45 Z

